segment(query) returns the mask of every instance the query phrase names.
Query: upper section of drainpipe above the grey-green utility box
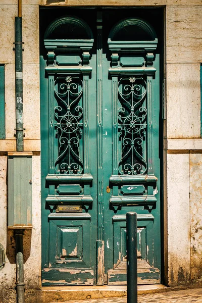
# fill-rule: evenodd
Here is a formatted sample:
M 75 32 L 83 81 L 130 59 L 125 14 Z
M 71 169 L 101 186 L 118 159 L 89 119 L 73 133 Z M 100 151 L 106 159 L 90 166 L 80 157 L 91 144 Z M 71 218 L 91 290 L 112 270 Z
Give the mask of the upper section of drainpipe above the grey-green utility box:
M 16 71 L 16 146 L 23 151 L 23 68 L 22 68 L 22 2 L 18 0 L 18 17 L 15 18 L 15 71 Z

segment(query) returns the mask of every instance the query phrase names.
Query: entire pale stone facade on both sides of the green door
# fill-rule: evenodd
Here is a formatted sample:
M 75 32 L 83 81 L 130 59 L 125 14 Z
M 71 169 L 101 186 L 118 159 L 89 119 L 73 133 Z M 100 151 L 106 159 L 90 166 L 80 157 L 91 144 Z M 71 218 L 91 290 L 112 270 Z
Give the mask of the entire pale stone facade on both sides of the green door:
M 33 229 L 25 234 L 26 288 L 40 288 L 39 6 L 165 6 L 167 159 L 164 175 L 165 269 L 170 286 L 201 281 L 202 139 L 200 138 L 201 0 L 24 0 L 24 150 L 33 151 Z M 16 149 L 14 20 L 16 0 L 0 0 L 0 64 L 5 64 L 6 139 L 0 140 L 0 243 L 7 249 L 0 271 L 4 302 L 15 301 L 15 239 L 7 230 L 7 151 Z M 41 109 L 42 110 L 42 109 Z M 167 182 L 166 182 L 167 181 Z M 27 254 L 27 255 L 26 255 Z M 0 295 L 1 300 L 1 295 Z

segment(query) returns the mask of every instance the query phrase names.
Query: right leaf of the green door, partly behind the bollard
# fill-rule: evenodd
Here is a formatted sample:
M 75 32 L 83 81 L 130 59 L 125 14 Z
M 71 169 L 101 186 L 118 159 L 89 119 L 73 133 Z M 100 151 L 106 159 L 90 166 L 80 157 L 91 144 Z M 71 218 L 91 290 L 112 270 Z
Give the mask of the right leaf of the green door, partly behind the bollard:
M 146 41 L 142 35 L 139 41 L 133 40 L 136 26 L 152 37 Z M 159 57 L 154 55 L 157 44 L 156 33 L 138 18 L 119 21 L 108 35 L 111 58 L 104 62 L 104 69 L 108 68 L 105 83 L 111 90 L 110 104 L 109 92 L 105 90 L 103 100 L 107 110 L 104 126 L 109 134 L 104 139 L 104 163 L 108 163 L 104 167 L 104 179 L 109 178 L 105 186 L 111 189 L 110 195 L 104 192 L 105 255 L 108 256 L 105 273 L 109 285 L 126 284 L 126 213 L 129 211 L 137 212 L 138 216 L 138 283 L 160 283 L 160 259 L 156 259 L 160 257 L 157 190 L 160 87 Z M 113 226 L 108 226 L 108 222 Z

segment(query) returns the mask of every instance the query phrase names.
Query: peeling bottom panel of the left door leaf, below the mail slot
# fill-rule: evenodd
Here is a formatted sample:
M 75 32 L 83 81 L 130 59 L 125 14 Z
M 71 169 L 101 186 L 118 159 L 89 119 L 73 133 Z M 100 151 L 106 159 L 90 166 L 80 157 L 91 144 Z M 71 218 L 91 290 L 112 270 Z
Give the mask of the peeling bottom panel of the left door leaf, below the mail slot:
M 49 266 L 42 271 L 43 285 L 93 285 L 90 268 L 90 219 L 88 214 L 51 214 Z

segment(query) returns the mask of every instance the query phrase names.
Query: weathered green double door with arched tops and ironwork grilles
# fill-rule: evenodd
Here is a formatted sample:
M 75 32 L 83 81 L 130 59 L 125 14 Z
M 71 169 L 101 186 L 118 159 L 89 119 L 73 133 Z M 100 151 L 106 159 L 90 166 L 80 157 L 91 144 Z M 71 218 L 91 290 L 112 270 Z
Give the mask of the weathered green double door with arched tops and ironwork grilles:
M 128 211 L 138 214 L 138 283 L 160 283 L 157 36 L 108 11 L 90 24 L 62 17 L 44 36 L 42 285 L 126 284 Z

